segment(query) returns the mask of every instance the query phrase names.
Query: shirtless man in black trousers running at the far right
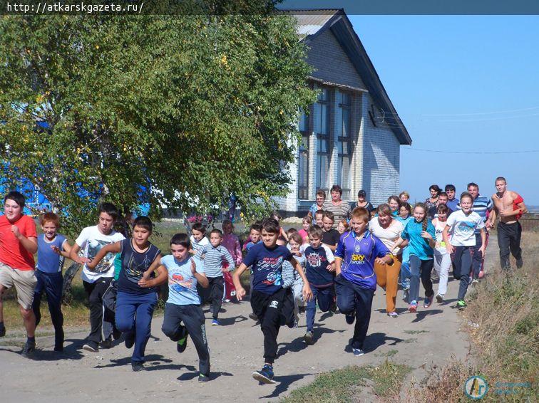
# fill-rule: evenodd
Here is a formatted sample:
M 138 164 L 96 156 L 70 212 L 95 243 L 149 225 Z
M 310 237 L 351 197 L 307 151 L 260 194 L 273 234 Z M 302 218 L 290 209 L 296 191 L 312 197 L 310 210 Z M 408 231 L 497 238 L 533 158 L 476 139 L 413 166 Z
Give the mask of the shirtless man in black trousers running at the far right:
M 516 259 L 517 268 L 521 268 L 522 249 L 520 249 L 520 216 L 528 212 L 524 204 L 524 199 L 520 194 L 507 189 L 507 181 L 504 177 L 496 178 L 496 192 L 492 195 L 494 203 L 493 214 L 488 219 L 487 226 L 492 228 L 496 221 L 496 216 L 500 216 L 498 224 L 498 246 L 500 246 L 501 266 L 505 270 L 510 270 L 509 252 Z

